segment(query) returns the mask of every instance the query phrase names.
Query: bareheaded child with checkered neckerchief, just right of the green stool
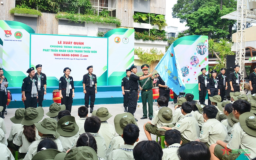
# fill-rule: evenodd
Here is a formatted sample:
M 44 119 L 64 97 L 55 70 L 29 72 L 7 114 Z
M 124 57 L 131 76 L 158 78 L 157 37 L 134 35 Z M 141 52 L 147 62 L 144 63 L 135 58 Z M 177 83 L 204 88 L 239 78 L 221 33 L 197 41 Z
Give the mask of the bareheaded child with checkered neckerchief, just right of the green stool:
M 177 150 L 182 143 L 180 131 L 168 130 L 165 132 L 164 138 L 164 144 L 167 148 L 163 148 L 162 160 L 179 160 Z

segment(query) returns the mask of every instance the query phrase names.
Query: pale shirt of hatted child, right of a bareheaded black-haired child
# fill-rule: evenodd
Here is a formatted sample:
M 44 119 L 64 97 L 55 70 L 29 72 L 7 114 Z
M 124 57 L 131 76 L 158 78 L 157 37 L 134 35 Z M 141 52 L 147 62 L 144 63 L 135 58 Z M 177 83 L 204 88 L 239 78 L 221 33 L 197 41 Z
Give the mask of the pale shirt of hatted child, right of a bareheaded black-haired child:
M 109 145 L 112 138 L 116 135 L 115 127 L 109 123 L 101 123 L 99 134 L 104 138 L 106 146 Z

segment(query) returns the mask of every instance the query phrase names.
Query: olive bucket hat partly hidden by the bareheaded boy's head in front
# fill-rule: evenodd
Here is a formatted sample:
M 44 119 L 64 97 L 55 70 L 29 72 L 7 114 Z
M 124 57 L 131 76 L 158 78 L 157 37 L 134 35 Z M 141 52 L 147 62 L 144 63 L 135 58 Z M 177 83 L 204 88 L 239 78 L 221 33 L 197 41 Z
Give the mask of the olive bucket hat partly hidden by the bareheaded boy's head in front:
M 138 126 L 134 116 L 129 112 L 116 115 L 114 118 L 114 124 L 116 133 L 119 134 L 120 136 L 123 134 L 124 127 L 127 124 L 135 124 Z

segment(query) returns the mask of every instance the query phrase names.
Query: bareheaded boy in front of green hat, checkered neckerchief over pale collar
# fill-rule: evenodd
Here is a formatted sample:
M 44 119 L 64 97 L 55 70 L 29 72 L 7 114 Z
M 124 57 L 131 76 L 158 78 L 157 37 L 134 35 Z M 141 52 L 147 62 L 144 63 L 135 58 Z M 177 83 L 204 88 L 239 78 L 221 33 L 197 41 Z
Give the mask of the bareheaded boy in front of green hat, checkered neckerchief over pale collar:
M 124 127 L 122 138 L 124 139 L 124 145 L 119 149 L 113 150 L 109 156 L 108 160 L 134 160 L 133 158 L 133 148 L 134 143 L 139 141 L 140 130 L 135 124 L 127 124 Z

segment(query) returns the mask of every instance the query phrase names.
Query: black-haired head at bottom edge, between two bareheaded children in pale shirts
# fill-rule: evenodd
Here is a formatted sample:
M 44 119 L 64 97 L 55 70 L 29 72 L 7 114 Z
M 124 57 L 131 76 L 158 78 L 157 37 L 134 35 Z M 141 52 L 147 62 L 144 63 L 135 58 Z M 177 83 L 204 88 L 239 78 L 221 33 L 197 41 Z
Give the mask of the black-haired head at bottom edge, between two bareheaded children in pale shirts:
M 133 148 L 133 157 L 135 160 L 161 160 L 163 150 L 155 140 L 143 140 Z

